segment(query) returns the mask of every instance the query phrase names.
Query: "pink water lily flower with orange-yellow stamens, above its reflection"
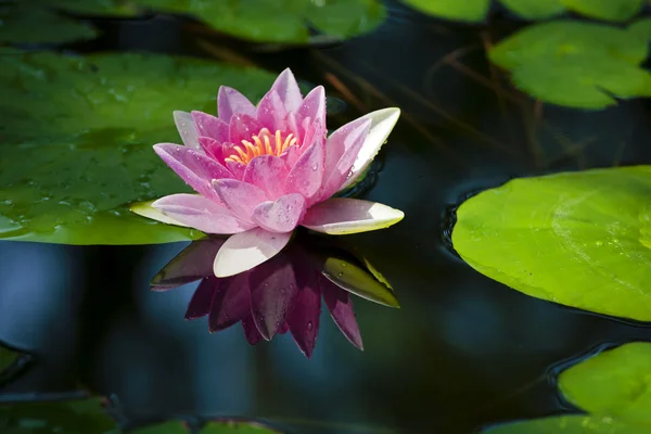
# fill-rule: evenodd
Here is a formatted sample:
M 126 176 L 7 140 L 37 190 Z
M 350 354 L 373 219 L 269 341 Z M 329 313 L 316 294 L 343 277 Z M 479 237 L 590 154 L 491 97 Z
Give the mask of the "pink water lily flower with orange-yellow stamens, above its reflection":
M 346 234 L 386 228 L 403 212 L 374 202 L 332 197 L 365 171 L 400 111 L 384 108 L 330 137 L 322 86 L 303 98 L 283 71 L 257 107 L 220 87 L 219 117 L 175 112 L 183 145 L 154 151 L 199 194 L 171 194 L 131 209 L 206 233 L 233 234 L 214 261 L 217 277 L 248 270 L 278 254 L 298 226 Z

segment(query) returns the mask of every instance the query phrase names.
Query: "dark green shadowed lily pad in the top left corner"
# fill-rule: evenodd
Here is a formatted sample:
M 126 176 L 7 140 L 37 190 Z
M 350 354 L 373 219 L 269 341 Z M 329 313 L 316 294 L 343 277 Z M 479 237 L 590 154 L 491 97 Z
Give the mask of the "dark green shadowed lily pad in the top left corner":
M 61 43 L 95 36 L 90 25 L 46 9 L 0 4 L 0 42 Z

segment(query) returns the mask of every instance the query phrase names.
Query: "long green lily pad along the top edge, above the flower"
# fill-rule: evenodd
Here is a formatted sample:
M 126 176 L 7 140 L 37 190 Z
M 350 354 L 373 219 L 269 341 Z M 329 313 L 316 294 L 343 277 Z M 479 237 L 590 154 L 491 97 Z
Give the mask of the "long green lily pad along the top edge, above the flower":
M 213 28 L 255 41 L 307 42 L 308 26 L 348 38 L 386 16 L 378 0 L 38 0 L 79 13 L 135 15 L 151 9 L 196 16 Z

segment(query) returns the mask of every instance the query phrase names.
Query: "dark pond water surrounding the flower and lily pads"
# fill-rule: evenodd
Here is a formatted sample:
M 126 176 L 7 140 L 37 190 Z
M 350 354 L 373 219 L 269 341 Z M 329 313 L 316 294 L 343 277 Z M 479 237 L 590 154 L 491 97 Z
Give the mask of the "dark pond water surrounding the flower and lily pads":
M 407 217 L 346 240 L 393 284 L 401 305 L 356 299 L 363 352 L 327 312 L 311 360 L 289 334 L 250 346 L 239 327 L 209 334 L 205 319 L 186 321 L 196 283 L 156 293 L 149 282 L 187 243 L 3 242 L 0 341 L 38 356 L 4 398 L 89 387 L 115 395 L 135 420 L 238 416 L 268 418 L 290 433 L 470 433 L 572 411 L 557 394 L 559 367 L 602 345 L 651 341 L 649 328 L 538 301 L 481 276 L 446 238 L 463 197 L 512 177 L 650 163 L 649 107 L 539 106 L 485 61 L 483 47 L 516 23 L 461 26 L 393 3 L 391 13 L 375 33 L 340 46 L 270 52 L 210 39 L 220 55 L 278 72 L 290 66 L 299 79 L 328 85 L 341 100 L 331 101 L 331 127 L 361 112 L 403 110 L 361 196 Z M 207 55 L 178 20 L 101 24 L 100 42 L 71 48 Z

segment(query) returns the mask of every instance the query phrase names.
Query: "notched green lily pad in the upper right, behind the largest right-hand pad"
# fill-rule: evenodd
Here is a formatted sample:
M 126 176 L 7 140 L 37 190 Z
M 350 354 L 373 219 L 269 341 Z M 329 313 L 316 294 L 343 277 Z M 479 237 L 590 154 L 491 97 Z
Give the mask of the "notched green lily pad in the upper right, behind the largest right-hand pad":
M 639 67 L 647 51 L 647 41 L 630 31 L 556 21 L 500 41 L 489 58 L 541 101 L 603 108 L 616 104 L 615 98 L 651 95 L 651 74 Z

